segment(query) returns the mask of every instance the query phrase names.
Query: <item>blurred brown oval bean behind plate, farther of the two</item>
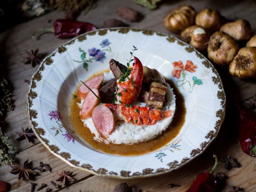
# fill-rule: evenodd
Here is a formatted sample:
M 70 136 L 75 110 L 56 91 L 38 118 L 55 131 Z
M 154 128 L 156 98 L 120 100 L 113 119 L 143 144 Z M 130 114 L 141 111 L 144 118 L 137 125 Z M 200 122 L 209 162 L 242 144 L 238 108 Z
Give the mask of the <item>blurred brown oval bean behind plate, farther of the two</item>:
M 119 7 L 115 13 L 130 22 L 136 22 L 140 17 L 140 14 L 130 7 Z

